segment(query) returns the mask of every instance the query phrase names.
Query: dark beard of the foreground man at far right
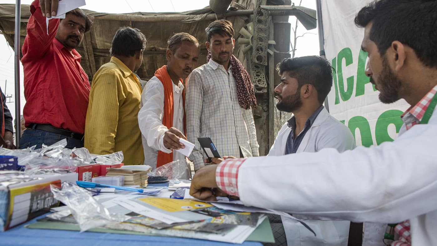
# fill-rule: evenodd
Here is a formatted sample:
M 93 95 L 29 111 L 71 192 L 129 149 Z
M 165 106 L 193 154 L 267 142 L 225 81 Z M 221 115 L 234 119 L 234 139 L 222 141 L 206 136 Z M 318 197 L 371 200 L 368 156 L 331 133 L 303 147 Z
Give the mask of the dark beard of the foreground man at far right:
M 372 80 L 372 78 L 371 78 Z M 393 73 L 390 66 L 388 66 L 385 56 L 382 58 L 382 72 L 377 78 L 379 100 L 383 104 L 391 104 L 399 100 L 399 90 L 402 86 L 402 81 Z

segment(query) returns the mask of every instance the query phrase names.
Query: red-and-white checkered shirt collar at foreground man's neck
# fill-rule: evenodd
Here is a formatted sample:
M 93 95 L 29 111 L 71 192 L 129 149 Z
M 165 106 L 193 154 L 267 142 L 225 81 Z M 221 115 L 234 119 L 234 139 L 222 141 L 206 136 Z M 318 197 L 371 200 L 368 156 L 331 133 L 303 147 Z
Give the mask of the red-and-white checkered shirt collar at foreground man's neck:
M 437 93 L 437 85 L 432 88 L 416 105 L 411 106 L 401 115 L 407 130 L 413 125 L 419 124 L 422 121 L 425 111 L 431 103 L 434 95 Z

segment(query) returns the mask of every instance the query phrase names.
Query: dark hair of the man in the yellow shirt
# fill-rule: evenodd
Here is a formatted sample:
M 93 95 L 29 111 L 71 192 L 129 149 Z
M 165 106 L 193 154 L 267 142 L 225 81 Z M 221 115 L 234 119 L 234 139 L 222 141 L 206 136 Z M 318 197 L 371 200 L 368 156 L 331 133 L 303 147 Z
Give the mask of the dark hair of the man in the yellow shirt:
M 146 49 L 146 37 L 137 28 L 119 28 L 112 39 L 112 55 L 134 56 L 138 50 Z

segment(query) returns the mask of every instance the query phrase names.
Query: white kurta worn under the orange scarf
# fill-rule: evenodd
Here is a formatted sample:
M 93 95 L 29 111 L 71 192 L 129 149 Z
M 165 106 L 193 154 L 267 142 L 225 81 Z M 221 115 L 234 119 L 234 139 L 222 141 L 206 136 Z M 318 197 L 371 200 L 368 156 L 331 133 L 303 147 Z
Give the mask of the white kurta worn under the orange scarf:
M 184 103 L 182 100 L 184 85 L 179 82 L 176 86 L 173 83 L 173 127 L 184 132 Z M 141 95 L 141 109 L 138 113 L 139 128 L 142 134 L 142 146 L 144 148 L 144 164 L 156 168 L 158 150 L 171 153 L 170 149 L 164 146 L 164 133 L 168 130 L 163 125 L 164 111 L 164 86 L 161 81 L 153 76 L 146 83 Z M 186 164 L 185 156 L 173 151 L 173 161 L 180 160 Z M 188 178 L 188 173 L 183 178 Z

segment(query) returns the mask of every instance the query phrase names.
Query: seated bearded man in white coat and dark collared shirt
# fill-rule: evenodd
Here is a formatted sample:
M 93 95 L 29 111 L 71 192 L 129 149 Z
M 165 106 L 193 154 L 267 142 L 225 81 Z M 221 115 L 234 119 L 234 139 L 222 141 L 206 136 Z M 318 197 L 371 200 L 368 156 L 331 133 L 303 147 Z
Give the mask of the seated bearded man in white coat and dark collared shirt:
M 277 64 L 277 70 L 281 83 L 274 90 L 279 101 L 276 107 L 293 116 L 278 132 L 268 156 L 318 152 L 324 148 L 334 148 L 338 152 L 354 149 L 355 139 L 349 128 L 322 105 L 332 87 L 331 64 L 312 55 L 284 59 Z M 269 219 L 275 243 L 268 245 L 347 245 L 349 221 L 302 218 L 316 232 L 315 237 L 300 222 L 285 216 L 269 215 Z

